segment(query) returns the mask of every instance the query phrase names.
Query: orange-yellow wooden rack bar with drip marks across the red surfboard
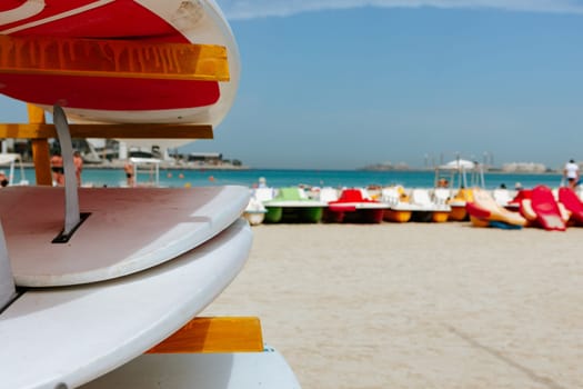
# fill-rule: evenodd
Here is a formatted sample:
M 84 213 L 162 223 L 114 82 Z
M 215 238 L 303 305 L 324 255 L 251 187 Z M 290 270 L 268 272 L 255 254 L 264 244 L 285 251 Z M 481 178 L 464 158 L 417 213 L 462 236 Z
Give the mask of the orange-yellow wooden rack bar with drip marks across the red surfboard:
M 0 36 L 0 72 L 229 81 L 227 49 L 215 44 L 152 43 Z

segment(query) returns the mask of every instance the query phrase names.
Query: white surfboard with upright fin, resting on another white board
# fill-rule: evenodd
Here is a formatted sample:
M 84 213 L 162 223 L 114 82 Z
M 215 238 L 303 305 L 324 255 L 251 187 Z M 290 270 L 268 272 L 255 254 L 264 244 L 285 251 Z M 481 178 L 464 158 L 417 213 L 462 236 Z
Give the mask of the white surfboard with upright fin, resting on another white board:
M 96 282 L 141 271 L 212 238 L 244 211 L 249 190 L 97 188 L 79 190 L 90 216 L 66 243 L 62 188 L 0 190 L 0 218 L 18 286 Z

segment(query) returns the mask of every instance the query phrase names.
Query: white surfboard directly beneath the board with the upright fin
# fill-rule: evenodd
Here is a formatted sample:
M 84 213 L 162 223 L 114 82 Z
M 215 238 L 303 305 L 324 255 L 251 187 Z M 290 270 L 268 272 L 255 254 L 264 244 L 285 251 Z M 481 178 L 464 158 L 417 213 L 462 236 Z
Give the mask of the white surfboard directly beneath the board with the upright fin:
M 147 271 L 26 291 L 0 313 L 0 388 L 76 388 L 138 357 L 213 301 L 242 269 L 251 240 L 240 219 Z

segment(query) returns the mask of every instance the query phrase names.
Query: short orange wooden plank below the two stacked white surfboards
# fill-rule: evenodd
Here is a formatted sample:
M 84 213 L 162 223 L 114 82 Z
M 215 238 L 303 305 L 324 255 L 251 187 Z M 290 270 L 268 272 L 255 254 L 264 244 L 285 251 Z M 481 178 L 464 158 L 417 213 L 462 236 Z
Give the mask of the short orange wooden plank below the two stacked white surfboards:
M 194 318 L 147 353 L 260 352 L 261 322 L 253 317 Z

